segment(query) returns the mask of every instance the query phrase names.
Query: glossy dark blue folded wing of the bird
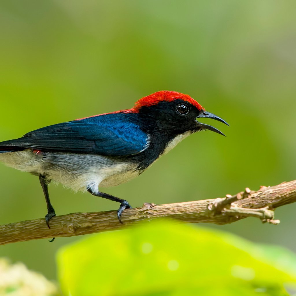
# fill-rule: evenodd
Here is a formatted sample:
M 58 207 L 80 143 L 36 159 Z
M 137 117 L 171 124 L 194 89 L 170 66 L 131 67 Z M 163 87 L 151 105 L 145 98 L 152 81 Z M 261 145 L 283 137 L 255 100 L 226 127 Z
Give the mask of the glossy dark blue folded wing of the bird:
M 0 150 L 136 154 L 149 146 L 149 136 L 136 122 L 136 114 L 117 113 L 59 123 L 31 131 L 20 139 L 1 142 Z

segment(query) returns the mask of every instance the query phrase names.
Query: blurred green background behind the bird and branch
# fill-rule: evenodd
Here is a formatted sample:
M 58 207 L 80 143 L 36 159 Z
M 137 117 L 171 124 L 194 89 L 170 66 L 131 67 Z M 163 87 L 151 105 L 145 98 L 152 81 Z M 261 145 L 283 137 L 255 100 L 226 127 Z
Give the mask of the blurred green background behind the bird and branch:
M 1 0 L 0 140 L 174 90 L 225 119 L 230 127 L 211 124 L 227 137 L 194 134 L 138 178 L 102 191 L 136 207 L 294 180 L 295 12 L 295 1 Z M 2 164 L 0 176 L 1 224 L 44 217 L 38 178 Z M 118 207 L 49 190 L 58 215 Z M 295 251 L 295 210 L 277 209 L 278 226 L 252 218 L 206 226 Z M 0 257 L 54 279 L 55 252 L 77 239 L 8 244 Z

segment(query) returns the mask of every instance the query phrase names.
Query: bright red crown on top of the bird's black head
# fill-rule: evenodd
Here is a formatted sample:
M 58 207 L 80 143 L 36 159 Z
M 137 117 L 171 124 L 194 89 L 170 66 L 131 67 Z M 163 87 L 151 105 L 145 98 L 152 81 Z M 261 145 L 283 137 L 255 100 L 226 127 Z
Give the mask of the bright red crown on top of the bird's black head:
M 135 107 L 133 107 L 132 112 L 139 112 L 139 109 L 143 106 L 149 107 L 156 105 L 159 102 L 172 102 L 176 99 L 181 99 L 185 102 L 188 102 L 200 111 L 204 110 L 204 108 L 188 94 L 182 94 L 176 91 L 157 91 L 154 94 L 144 96 L 144 98 L 139 99 L 139 101 L 136 102 Z

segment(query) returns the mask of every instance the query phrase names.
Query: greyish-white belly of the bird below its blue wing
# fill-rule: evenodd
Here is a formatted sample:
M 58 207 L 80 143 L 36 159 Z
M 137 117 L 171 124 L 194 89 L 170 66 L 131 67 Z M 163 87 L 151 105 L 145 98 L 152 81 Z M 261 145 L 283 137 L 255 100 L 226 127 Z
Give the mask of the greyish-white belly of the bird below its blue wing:
M 87 187 L 91 187 L 95 192 L 99 185 L 116 186 L 142 172 L 136 169 L 136 165 L 105 156 L 51 152 L 38 155 L 30 149 L 0 153 L 0 161 L 34 175 L 44 174 L 74 190 L 85 191 Z

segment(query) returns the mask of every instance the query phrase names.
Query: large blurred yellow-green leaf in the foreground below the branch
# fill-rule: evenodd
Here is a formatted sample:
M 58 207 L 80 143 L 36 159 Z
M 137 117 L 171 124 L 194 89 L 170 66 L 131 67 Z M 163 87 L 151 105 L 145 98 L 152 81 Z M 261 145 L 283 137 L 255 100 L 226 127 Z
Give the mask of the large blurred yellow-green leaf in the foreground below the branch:
M 284 284 L 295 273 L 260 260 L 262 250 L 224 232 L 153 221 L 62 247 L 57 261 L 65 295 L 289 295 Z

